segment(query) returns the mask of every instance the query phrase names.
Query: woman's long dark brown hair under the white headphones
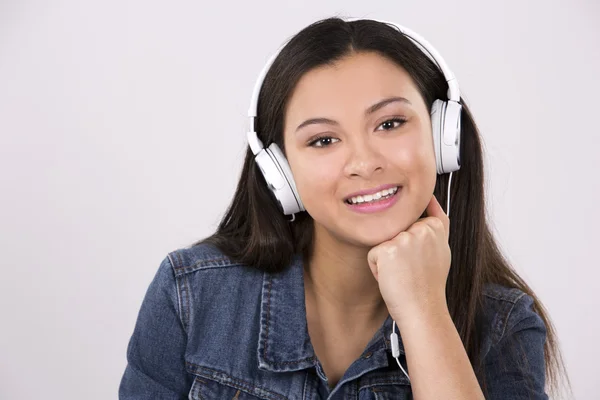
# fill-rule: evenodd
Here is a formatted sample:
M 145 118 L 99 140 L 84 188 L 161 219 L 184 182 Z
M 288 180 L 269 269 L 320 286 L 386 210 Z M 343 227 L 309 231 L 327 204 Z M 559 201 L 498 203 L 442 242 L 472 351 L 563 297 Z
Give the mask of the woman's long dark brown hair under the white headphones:
M 404 68 L 429 109 L 435 99 L 446 99 L 448 85 L 438 67 L 395 28 L 370 20 L 346 22 L 339 18 L 317 21 L 291 38 L 267 72 L 258 99 L 256 132 L 268 146 L 282 151 L 283 122 L 289 97 L 298 80 L 312 68 L 331 65 L 357 52 L 376 52 Z M 518 288 L 534 299 L 534 310 L 547 328 L 544 345 L 547 387 L 558 393 L 559 378 L 569 379 L 555 328 L 533 290 L 501 253 L 487 222 L 482 146 L 478 129 L 461 99 L 461 169 L 453 175 L 450 249 L 452 263 L 446 285 L 450 315 L 478 377 L 477 319 L 484 285 Z M 448 174 L 438 175 L 435 196 L 446 204 Z M 306 212 L 289 222 L 269 192 L 248 149 L 233 200 L 216 232 L 196 244 L 210 243 L 239 263 L 268 272 L 285 268 L 294 254 L 308 257 L 313 244 L 313 219 Z M 485 390 L 485 383 L 483 384 Z

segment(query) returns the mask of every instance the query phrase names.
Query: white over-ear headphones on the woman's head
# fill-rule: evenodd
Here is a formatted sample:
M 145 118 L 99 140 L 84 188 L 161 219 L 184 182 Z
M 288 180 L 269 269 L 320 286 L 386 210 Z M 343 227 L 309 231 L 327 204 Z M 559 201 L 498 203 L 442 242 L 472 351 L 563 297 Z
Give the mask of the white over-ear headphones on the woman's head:
M 358 18 L 347 19 L 347 22 L 358 20 Z M 448 101 L 435 100 L 431 106 L 431 127 L 433 143 L 435 148 L 436 169 L 438 174 L 457 171 L 460 168 L 460 91 L 454 74 L 450 71 L 442 56 L 435 48 L 417 33 L 408 28 L 392 22 L 375 20 L 393 26 L 406 37 L 411 39 L 421 50 L 437 64 L 448 82 Z M 258 94 L 262 87 L 267 71 L 273 61 L 279 55 L 286 43 L 284 43 L 275 54 L 267 61 L 254 85 L 248 117 L 250 127 L 247 133 L 248 144 L 255 156 L 256 163 L 267 182 L 269 189 L 275 195 L 285 215 L 292 215 L 304 211 L 304 204 L 300 199 L 294 177 L 290 166 L 277 144 L 272 143 L 264 148 L 263 143 L 255 132 L 255 120 L 257 113 Z M 449 209 L 449 207 L 448 207 Z

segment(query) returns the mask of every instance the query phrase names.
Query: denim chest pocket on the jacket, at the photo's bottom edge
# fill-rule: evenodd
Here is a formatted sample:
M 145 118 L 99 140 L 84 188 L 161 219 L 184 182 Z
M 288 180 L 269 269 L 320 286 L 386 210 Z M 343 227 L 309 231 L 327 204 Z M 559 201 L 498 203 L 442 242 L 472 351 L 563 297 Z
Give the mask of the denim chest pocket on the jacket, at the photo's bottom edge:
M 247 383 L 221 383 L 204 376 L 196 376 L 189 393 L 189 400 L 285 400 L 283 396 L 270 393 Z

